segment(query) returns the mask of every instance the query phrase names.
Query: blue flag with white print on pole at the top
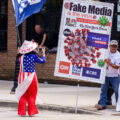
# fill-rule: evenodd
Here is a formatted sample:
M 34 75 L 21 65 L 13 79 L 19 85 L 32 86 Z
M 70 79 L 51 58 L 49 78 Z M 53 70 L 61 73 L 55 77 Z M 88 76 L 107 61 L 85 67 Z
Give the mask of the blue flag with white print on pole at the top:
M 26 18 L 39 12 L 46 0 L 12 0 L 16 25 L 19 26 Z

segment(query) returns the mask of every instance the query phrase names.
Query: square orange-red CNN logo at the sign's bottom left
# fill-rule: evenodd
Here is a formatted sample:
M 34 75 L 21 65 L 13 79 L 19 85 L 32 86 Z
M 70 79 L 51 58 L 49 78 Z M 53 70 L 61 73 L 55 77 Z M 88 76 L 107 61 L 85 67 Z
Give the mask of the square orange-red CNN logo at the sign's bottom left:
M 70 71 L 70 63 L 60 61 L 60 63 L 59 63 L 59 72 L 69 74 L 69 71 Z

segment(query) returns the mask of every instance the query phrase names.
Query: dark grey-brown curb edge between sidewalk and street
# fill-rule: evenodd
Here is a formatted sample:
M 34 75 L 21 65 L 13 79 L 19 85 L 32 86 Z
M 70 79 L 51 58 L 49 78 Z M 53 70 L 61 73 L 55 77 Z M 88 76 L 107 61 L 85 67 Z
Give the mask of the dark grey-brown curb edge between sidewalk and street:
M 12 107 L 17 109 L 18 103 L 12 101 L 0 101 L 0 107 Z M 63 113 L 75 113 L 74 107 L 50 105 L 50 104 L 37 104 L 39 110 L 59 111 Z M 100 115 L 97 111 L 87 110 L 84 108 L 78 108 L 78 114 Z

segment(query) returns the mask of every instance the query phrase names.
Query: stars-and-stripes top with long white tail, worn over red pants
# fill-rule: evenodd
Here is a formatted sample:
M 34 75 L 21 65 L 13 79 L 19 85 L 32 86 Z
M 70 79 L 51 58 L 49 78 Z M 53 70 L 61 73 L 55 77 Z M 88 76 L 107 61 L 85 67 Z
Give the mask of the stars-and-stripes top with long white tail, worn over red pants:
M 35 63 L 45 63 L 45 57 L 39 58 L 36 54 L 26 54 L 19 58 L 20 72 L 18 76 L 18 87 L 16 89 L 16 96 L 20 100 L 21 96 L 28 89 L 32 83 L 33 78 L 37 80 L 35 73 Z

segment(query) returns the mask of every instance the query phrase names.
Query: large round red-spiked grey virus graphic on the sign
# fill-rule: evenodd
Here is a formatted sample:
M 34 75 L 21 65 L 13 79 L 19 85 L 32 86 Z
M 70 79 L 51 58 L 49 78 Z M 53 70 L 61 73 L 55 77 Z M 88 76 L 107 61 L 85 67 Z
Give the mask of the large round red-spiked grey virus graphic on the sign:
M 64 52 L 72 65 L 90 67 L 101 56 L 100 48 L 87 46 L 88 29 L 76 29 L 64 40 Z

